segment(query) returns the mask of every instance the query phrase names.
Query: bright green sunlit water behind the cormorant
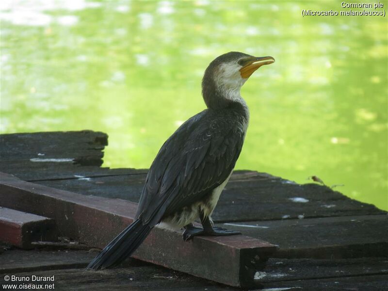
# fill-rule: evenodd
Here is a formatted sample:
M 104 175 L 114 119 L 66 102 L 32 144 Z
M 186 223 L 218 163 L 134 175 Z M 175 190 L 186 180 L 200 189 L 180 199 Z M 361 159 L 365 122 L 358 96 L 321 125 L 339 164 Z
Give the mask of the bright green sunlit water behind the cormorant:
M 147 168 L 214 57 L 271 55 L 236 167 L 387 210 L 387 16 L 301 16 L 340 2 L 1 1 L 1 132 L 100 130 L 105 166 Z

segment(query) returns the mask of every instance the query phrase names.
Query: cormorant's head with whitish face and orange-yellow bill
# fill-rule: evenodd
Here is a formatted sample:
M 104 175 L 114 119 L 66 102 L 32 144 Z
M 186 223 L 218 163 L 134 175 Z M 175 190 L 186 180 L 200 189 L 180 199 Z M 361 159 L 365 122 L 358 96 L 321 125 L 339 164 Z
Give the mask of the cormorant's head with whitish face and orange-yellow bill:
M 202 95 L 206 104 L 212 107 L 211 102 L 241 98 L 240 89 L 253 72 L 274 62 L 273 57 L 254 57 L 238 51 L 217 57 L 206 69 L 202 80 Z

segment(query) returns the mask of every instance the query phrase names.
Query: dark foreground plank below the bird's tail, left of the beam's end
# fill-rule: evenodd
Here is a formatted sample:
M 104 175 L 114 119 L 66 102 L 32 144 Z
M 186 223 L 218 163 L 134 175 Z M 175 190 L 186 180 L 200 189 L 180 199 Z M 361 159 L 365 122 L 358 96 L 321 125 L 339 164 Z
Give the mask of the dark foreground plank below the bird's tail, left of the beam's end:
M 193 277 L 160 266 L 132 266 L 103 271 L 83 271 L 80 269 L 49 270 L 18 273 L 18 276 L 54 276 L 55 290 L 104 290 L 104 291 L 225 291 L 236 289 L 219 285 L 208 280 Z M 4 284 L 0 276 L 0 286 Z

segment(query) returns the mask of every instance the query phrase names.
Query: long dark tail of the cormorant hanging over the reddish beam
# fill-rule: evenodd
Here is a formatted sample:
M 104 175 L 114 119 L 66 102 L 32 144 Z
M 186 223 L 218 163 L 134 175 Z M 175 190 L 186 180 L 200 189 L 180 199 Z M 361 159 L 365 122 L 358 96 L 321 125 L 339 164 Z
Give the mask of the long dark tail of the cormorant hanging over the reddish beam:
M 151 229 L 139 219 L 133 221 L 90 262 L 86 270 L 105 269 L 121 263 L 139 247 Z

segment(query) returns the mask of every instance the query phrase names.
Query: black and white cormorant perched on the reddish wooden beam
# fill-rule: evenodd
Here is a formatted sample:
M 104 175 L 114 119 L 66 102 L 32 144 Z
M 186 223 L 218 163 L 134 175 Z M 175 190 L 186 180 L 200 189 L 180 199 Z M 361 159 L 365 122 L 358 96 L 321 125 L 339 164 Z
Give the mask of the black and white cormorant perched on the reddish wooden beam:
M 213 60 L 202 80 L 208 107 L 183 123 L 163 144 L 152 163 L 134 221 L 88 269 L 104 269 L 129 257 L 160 224 L 184 228 L 185 241 L 197 235 L 240 234 L 213 226 L 210 218 L 239 158 L 249 121 L 240 89 L 273 57 L 228 52 Z M 199 219 L 203 228 L 193 226 Z

